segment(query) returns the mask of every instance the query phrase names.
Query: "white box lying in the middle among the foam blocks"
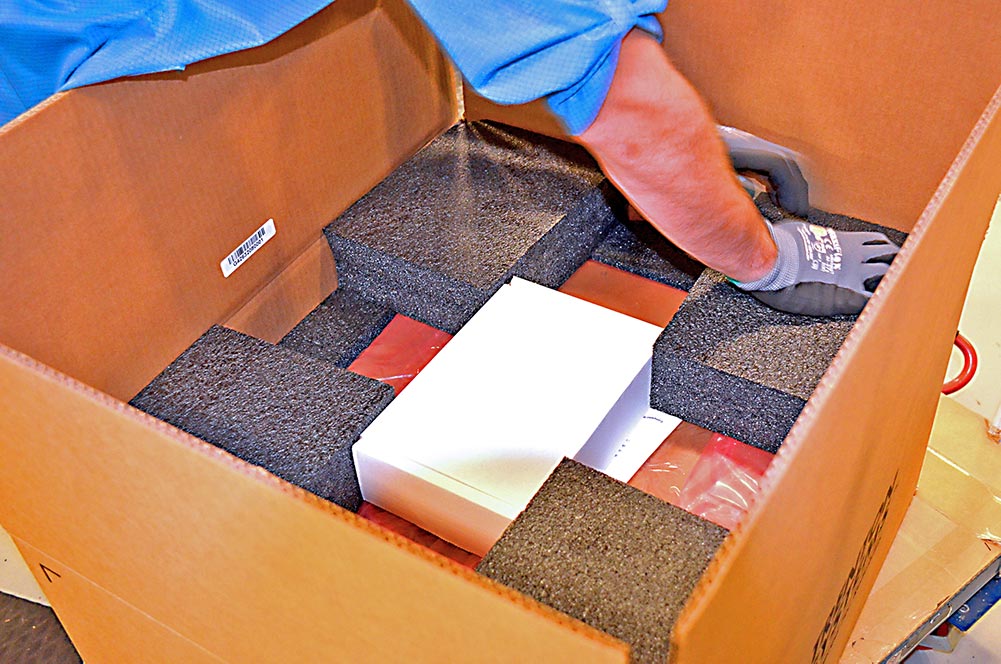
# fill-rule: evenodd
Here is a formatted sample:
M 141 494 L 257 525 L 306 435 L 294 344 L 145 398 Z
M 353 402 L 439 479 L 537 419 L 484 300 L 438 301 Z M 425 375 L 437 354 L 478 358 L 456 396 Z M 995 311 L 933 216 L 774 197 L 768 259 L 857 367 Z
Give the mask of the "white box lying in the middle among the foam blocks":
M 628 480 L 679 422 L 650 409 L 660 333 L 514 278 L 355 443 L 361 495 L 482 555 L 564 457 Z

